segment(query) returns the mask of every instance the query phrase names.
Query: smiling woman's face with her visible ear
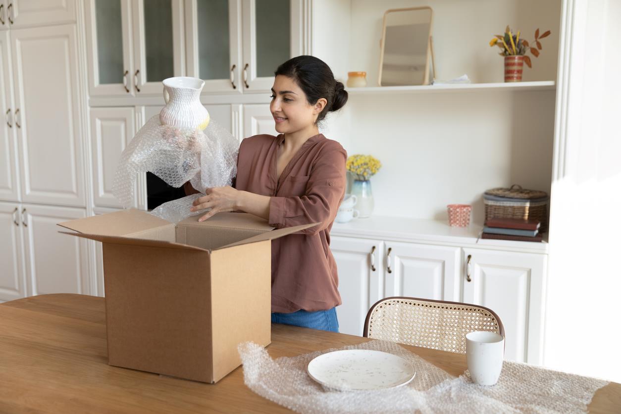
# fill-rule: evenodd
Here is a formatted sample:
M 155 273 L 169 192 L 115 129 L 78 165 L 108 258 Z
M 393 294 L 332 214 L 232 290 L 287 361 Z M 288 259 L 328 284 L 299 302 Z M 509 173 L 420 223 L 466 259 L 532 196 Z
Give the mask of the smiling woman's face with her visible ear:
M 279 74 L 274 79 L 270 111 L 276 122 L 278 133 L 294 133 L 315 124 L 317 115 L 324 109 L 325 99 L 315 105 L 309 104 L 306 94 L 296 82 Z

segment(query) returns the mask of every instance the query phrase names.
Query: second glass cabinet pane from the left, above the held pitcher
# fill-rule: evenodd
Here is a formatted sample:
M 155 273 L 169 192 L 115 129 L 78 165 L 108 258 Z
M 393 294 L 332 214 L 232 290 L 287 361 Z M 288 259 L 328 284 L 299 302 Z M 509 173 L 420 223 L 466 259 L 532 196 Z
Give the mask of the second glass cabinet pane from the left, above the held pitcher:
M 175 76 L 171 0 L 143 0 L 147 82 Z

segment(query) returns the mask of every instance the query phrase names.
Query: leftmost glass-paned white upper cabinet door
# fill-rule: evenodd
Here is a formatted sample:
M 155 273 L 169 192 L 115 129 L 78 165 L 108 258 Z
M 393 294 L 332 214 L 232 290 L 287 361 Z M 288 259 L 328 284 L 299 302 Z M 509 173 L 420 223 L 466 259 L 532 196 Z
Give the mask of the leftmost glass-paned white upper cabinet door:
M 130 0 L 86 0 L 91 96 L 134 95 Z

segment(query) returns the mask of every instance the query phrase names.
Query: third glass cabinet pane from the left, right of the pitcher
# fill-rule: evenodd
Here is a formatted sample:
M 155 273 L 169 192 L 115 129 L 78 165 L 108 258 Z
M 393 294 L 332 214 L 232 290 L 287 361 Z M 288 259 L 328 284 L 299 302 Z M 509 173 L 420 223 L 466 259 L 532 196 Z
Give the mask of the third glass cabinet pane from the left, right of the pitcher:
M 198 67 L 201 79 L 228 79 L 229 1 L 197 0 Z

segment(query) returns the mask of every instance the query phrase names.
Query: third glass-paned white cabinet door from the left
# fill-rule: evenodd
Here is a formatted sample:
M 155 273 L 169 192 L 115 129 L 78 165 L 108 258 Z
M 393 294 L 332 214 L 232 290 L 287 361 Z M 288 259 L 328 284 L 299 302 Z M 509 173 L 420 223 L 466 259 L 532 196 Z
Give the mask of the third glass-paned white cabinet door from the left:
M 205 81 L 203 94 L 241 93 L 241 0 L 186 0 L 188 76 Z

